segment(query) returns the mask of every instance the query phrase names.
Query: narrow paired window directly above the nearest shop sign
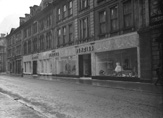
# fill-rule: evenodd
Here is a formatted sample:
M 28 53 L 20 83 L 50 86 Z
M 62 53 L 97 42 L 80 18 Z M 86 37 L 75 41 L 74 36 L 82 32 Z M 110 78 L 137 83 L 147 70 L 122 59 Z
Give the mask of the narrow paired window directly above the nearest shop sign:
M 80 20 L 80 38 L 88 38 L 88 18 L 83 18 Z

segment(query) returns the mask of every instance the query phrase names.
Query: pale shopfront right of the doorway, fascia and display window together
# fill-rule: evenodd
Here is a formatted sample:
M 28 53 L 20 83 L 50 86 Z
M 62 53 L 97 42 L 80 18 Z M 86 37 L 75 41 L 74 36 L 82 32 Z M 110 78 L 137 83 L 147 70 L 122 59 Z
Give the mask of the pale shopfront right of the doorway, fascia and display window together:
M 137 32 L 96 41 L 95 53 L 92 54 L 92 62 L 94 62 L 92 78 L 140 78 L 139 50 L 139 35 Z M 123 62 L 127 63 L 126 70 L 124 69 L 126 65 Z M 117 63 L 121 65 L 123 73 L 115 73 Z M 108 72 L 109 69 L 112 73 Z M 135 74 L 133 74 L 133 70 L 135 70 Z

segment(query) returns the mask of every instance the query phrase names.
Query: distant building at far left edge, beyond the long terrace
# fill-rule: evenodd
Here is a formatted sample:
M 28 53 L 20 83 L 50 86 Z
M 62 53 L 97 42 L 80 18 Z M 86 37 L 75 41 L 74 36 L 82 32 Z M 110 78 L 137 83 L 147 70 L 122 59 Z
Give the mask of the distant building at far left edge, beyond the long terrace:
M 0 72 L 6 71 L 6 37 L 0 34 Z

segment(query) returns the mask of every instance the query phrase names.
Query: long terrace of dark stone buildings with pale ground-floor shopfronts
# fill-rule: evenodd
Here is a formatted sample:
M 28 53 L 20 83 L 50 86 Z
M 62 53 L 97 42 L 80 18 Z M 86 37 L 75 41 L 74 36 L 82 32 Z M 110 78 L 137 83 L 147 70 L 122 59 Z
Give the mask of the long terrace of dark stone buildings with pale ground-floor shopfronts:
M 152 82 L 162 59 L 159 2 L 42 0 L 6 37 L 7 72 Z

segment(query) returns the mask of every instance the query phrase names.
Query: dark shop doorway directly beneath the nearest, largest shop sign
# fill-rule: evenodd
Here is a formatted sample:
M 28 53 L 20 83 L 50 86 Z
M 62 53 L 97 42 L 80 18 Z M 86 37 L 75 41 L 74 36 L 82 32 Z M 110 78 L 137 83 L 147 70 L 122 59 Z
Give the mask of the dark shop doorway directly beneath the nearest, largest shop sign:
M 91 76 L 91 54 L 79 55 L 79 76 Z

